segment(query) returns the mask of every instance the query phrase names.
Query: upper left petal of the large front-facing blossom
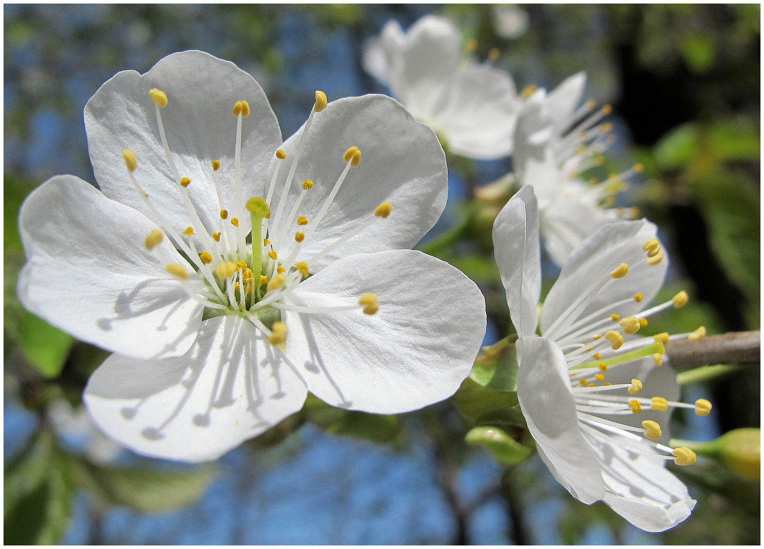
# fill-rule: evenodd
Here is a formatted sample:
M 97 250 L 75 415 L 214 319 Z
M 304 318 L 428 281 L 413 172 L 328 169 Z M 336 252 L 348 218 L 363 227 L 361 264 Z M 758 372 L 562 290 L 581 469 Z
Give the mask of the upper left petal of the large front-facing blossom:
M 248 73 L 234 63 L 196 50 L 163 57 L 143 76 L 132 70 L 117 73 L 95 92 L 85 107 L 85 126 L 90 160 L 102 191 L 152 217 L 125 170 L 122 149 L 132 150 L 138 158 L 136 179 L 159 212 L 179 230 L 191 223 L 161 144 L 154 103 L 148 94 L 152 88 L 167 94 L 168 104 L 161 114 L 180 177 L 191 179 L 189 195 L 208 231 L 218 231 L 221 207 L 212 179 L 212 160 L 221 163 L 218 173 L 223 195 L 231 201 L 226 208 L 236 211 L 232 203 L 236 141 L 233 106 L 246 100 L 251 109 L 241 131 L 244 201 L 264 195 L 270 183 L 267 166 L 281 143 L 276 115 Z M 241 217 L 241 226 L 249 231 L 249 216 Z

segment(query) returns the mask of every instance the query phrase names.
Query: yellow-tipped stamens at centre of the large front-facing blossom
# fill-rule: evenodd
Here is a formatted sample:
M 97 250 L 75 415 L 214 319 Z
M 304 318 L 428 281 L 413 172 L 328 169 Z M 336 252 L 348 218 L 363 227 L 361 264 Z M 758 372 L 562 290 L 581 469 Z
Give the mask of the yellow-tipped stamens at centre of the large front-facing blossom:
M 231 313 L 241 315 L 265 334 L 271 344 L 276 345 L 286 341 L 286 325 L 280 321 L 280 311 L 282 310 L 305 313 L 358 310 L 367 315 L 374 315 L 377 312 L 379 308 L 377 296 L 371 293 L 360 295 L 358 305 L 307 307 L 283 302 L 283 298 L 290 295 L 299 286 L 299 283 L 311 276 L 310 268 L 319 260 L 350 240 L 351 237 L 360 234 L 377 219 L 387 218 L 392 211 L 390 203 L 384 202 L 367 221 L 348 231 L 348 234 L 339 238 L 338 241 L 314 254 L 308 260 L 296 261 L 299 251 L 310 240 L 316 227 L 324 218 L 332 200 L 348 176 L 348 171 L 361 162 L 361 150 L 358 147 L 350 147 L 345 151 L 343 155 L 345 169 L 314 218 L 309 219 L 305 215 L 297 216 L 306 193 L 314 186 L 310 179 L 306 179 L 300 184 L 302 191 L 290 212 L 285 212 L 286 199 L 293 185 L 297 163 L 303 152 L 305 137 L 316 113 L 323 111 L 327 105 L 326 95 L 323 92 L 316 92 L 316 103 L 308 121 L 306 121 L 303 134 L 299 138 L 299 144 L 289 174 L 286 176 L 272 224 L 270 223 L 270 206 L 273 203 L 274 189 L 281 163 L 286 160 L 286 153 L 281 149 L 275 151 L 276 169 L 270 182 L 267 197 L 253 197 L 244 202 L 241 172 L 241 128 L 244 118 L 250 115 L 250 107 L 246 101 L 235 103 L 233 107 L 233 115 L 236 118 L 236 145 L 233 166 L 235 197 L 231 199 L 231 197 L 223 195 L 218 173 L 221 163 L 219 160 L 213 160 L 210 167 L 218 195 L 220 215 L 219 221 L 212 228 L 212 231 L 209 231 L 208 227 L 202 223 L 189 197 L 188 189 L 189 186 L 193 188 L 193 181 L 188 177 L 180 176 L 170 154 L 161 116 L 161 109 L 168 105 L 167 95 L 159 89 L 151 89 L 149 95 L 155 105 L 154 110 L 160 140 L 167 157 L 167 164 L 186 205 L 186 212 L 191 224 L 179 232 L 154 207 L 151 197 L 144 192 L 135 178 L 134 172 L 138 170 L 138 159 L 131 150 L 125 149 L 122 153 L 131 182 L 149 211 L 154 215 L 155 221 L 160 225 L 160 228 L 153 229 L 147 235 L 144 244 L 147 250 L 153 250 L 157 254 L 173 280 L 179 283 L 190 297 L 206 307 L 206 315 Z M 250 218 L 251 234 L 247 234 L 242 225 L 241 220 L 244 219 L 244 215 L 248 215 Z M 292 228 L 293 224 L 294 228 Z M 277 228 L 280 228 L 278 234 Z M 290 237 L 291 231 L 294 231 L 293 238 Z M 190 263 L 172 262 L 167 258 L 167 254 L 159 246 L 165 237 L 169 238 L 176 249 L 180 250 Z M 293 241 L 291 249 L 290 240 Z M 248 244 L 248 241 L 251 244 Z M 201 244 L 201 250 L 197 244 Z

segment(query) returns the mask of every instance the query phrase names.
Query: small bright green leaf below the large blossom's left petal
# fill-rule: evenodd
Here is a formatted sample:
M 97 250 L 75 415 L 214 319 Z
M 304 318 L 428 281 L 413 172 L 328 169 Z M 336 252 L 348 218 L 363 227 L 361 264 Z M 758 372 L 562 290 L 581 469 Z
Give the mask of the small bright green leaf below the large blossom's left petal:
M 31 312 L 27 312 L 21 320 L 21 349 L 24 350 L 24 356 L 48 378 L 61 373 L 73 343 L 72 336 L 53 328 Z

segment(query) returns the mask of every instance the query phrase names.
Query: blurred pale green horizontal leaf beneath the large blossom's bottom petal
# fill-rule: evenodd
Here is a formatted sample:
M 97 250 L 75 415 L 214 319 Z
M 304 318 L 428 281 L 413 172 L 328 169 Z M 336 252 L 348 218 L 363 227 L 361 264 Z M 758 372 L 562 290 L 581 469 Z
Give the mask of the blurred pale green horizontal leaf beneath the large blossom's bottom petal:
M 125 505 L 138 512 L 181 509 L 202 496 L 219 473 L 214 463 L 191 469 L 158 470 L 155 467 L 114 467 L 73 457 L 76 481 L 102 502 Z

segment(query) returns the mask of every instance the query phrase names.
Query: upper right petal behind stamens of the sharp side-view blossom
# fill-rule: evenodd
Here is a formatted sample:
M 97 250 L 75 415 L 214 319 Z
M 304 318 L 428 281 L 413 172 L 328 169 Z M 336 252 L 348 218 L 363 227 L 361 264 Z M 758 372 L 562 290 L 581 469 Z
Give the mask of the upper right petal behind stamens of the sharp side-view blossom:
M 591 299 L 588 305 L 586 301 L 581 302 L 581 305 L 575 308 L 576 313 L 568 315 L 568 320 L 555 329 L 555 333 L 562 333 L 565 326 L 571 325 L 576 318 L 583 318 L 622 299 L 633 298 L 636 293 L 643 295 L 642 302 L 631 299 L 625 305 L 603 313 L 603 318 L 611 312 L 616 312 L 622 317 L 636 315 L 645 308 L 658 293 L 669 263 L 665 250 L 660 263 L 647 263 L 647 255 L 642 247 L 646 241 L 656 237 L 656 231 L 656 225 L 650 221 L 618 221 L 600 228 L 576 247 L 562 266 L 560 276 L 542 307 L 542 334 L 546 334 L 547 328 L 581 295 L 590 295 L 604 280 L 607 282 L 596 293 L 594 299 Z M 629 273 L 620 279 L 610 278 L 610 271 L 620 263 L 629 265 Z

